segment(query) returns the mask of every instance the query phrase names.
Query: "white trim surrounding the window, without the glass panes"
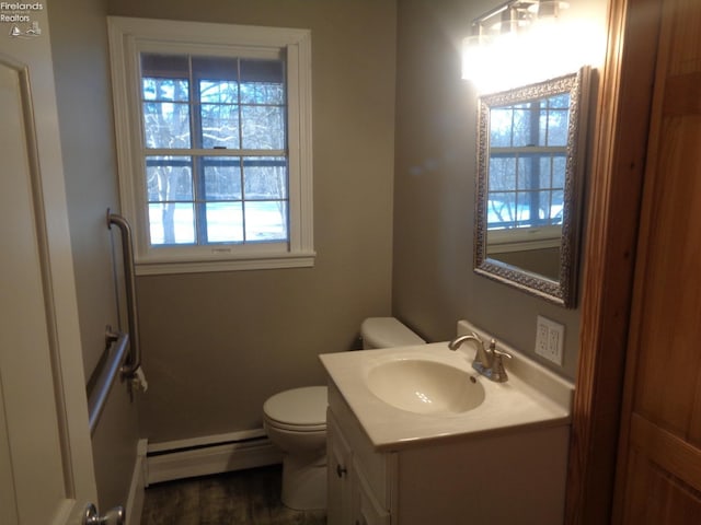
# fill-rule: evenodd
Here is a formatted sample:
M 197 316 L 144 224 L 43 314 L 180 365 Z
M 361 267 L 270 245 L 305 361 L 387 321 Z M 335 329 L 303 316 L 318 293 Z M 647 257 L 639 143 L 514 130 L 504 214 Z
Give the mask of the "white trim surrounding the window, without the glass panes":
M 137 275 L 310 267 L 314 264 L 309 30 L 108 16 L 122 213 L 134 225 Z M 287 59 L 289 242 L 150 247 L 138 112 L 138 54 L 148 50 Z

